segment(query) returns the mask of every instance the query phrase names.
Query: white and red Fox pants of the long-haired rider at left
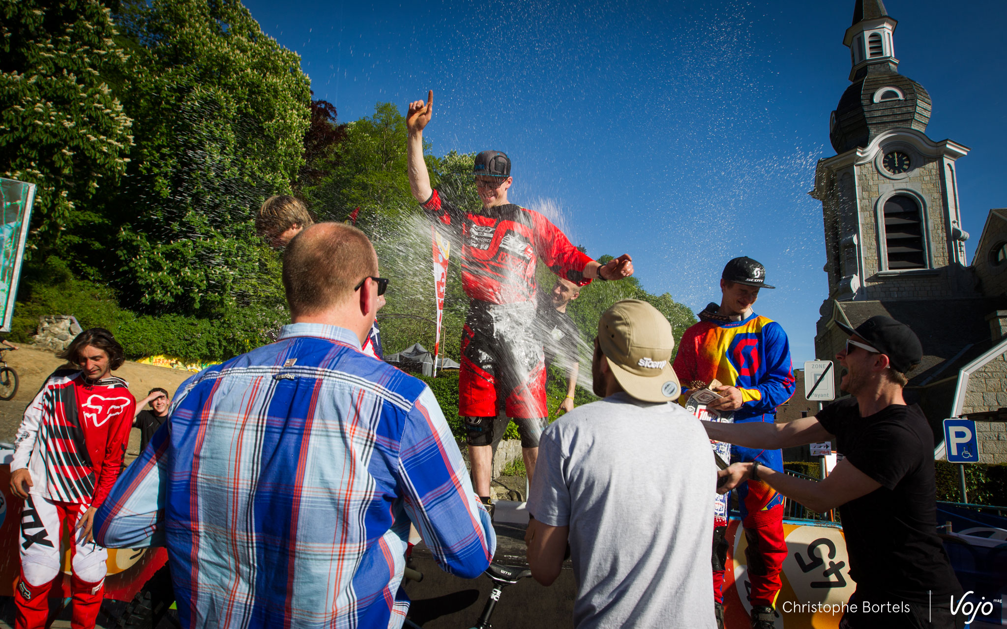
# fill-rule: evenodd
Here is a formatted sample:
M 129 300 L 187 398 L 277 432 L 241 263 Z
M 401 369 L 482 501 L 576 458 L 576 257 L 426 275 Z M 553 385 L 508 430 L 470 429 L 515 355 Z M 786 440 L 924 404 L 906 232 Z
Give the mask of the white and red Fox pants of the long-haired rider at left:
M 105 594 L 105 565 L 109 552 L 94 541 L 85 541 L 77 528 L 88 505 L 54 502 L 44 496 L 29 495 L 21 511 L 21 574 L 14 591 L 17 604 L 15 629 L 44 627 L 49 589 L 62 569 L 59 541 L 70 536 L 70 595 L 74 600 L 74 629 L 94 629 Z

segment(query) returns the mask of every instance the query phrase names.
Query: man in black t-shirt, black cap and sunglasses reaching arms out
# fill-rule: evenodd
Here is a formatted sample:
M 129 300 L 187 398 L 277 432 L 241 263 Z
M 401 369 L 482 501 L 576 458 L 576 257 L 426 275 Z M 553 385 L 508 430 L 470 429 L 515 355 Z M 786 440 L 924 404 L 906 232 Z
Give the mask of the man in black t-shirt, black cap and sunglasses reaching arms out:
M 857 591 L 842 629 L 961 629 L 962 588 L 937 534 L 933 437 L 916 405 L 907 406 L 905 373 L 922 348 L 908 326 L 871 317 L 836 354 L 846 367 L 840 385 L 852 397 L 814 418 L 787 424 L 712 424 L 711 439 L 749 448 L 789 448 L 832 441 L 845 458 L 823 481 L 801 480 L 755 463 L 720 472 L 727 491 L 757 479 L 820 513 L 839 507 Z

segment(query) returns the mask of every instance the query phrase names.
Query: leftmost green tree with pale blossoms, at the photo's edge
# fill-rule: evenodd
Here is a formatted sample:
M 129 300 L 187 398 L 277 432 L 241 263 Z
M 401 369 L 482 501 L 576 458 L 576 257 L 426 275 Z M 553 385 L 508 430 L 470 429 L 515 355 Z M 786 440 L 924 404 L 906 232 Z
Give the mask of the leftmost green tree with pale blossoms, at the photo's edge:
M 0 173 L 37 184 L 30 250 L 85 249 L 129 162 L 132 121 L 110 77 L 127 54 L 94 0 L 0 0 Z M 113 82 L 114 83 L 114 82 Z

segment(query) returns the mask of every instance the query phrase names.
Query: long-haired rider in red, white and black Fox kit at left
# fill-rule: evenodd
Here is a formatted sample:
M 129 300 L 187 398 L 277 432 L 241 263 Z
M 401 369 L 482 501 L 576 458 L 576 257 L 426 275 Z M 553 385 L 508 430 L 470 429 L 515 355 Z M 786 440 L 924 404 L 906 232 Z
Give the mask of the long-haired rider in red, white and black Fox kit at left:
M 57 369 L 42 384 L 24 412 L 10 464 L 10 489 L 24 498 L 17 629 L 45 626 L 63 531 L 71 543 L 71 626 L 95 626 L 108 552 L 95 543 L 92 520 L 119 477 L 136 406 L 127 382 L 111 375 L 124 358 L 108 330 L 81 332 L 58 356 L 80 368 Z

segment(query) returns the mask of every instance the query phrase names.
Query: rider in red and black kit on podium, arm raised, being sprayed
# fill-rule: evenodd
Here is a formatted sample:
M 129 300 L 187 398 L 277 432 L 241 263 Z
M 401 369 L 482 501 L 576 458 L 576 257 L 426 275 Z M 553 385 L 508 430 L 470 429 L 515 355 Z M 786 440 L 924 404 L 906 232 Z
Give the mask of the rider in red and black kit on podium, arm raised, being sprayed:
M 518 423 L 529 481 L 548 416 L 542 343 L 534 333 L 537 258 L 577 286 L 594 278 L 627 278 L 632 261 L 624 255 L 602 266 L 545 216 L 508 201 L 511 160 L 499 151 L 475 156 L 472 174 L 481 211 L 463 211 L 441 198 L 423 160 L 423 128 L 433 115 L 433 98 L 431 90 L 426 103 L 409 105 L 409 184 L 423 208 L 461 239 L 461 282 L 472 301 L 461 338 L 458 414 L 468 429 L 473 485 L 488 504 L 491 444 L 494 433 L 498 438 L 506 429 L 493 427 L 497 409 Z

